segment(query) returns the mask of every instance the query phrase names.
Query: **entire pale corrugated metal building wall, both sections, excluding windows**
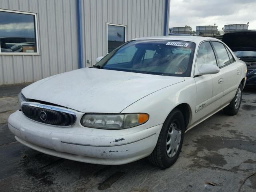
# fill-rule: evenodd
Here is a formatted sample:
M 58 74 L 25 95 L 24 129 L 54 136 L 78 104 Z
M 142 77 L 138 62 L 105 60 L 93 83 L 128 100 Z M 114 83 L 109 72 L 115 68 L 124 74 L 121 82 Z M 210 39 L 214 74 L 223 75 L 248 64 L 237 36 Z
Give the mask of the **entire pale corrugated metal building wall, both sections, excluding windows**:
M 84 67 L 106 55 L 106 23 L 126 25 L 126 40 L 162 36 L 165 2 L 83 0 Z M 0 9 L 38 14 L 40 51 L 36 56 L 0 55 L 0 84 L 33 82 L 78 68 L 76 0 L 0 0 Z

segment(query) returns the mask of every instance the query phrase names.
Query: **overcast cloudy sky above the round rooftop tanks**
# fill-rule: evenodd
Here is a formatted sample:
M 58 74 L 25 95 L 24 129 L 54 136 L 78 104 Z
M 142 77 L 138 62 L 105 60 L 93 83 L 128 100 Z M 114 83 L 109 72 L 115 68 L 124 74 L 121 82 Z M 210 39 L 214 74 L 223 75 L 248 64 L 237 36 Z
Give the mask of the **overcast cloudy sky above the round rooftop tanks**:
M 256 0 L 170 0 L 170 27 L 247 24 L 256 29 Z

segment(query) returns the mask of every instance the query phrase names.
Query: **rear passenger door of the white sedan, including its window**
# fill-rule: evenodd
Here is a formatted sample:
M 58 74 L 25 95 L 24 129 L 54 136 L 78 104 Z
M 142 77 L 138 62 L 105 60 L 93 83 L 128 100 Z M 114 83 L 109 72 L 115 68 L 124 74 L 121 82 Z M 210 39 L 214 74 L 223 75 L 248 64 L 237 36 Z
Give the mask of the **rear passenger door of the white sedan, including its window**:
M 221 42 L 212 41 L 212 46 L 218 58 L 219 74 L 221 79 L 216 78 L 214 84 L 221 83 L 223 86 L 223 97 L 221 106 L 228 104 L 235 96 L 241 79 L 240 65 L 236 62 L 228 48 Z

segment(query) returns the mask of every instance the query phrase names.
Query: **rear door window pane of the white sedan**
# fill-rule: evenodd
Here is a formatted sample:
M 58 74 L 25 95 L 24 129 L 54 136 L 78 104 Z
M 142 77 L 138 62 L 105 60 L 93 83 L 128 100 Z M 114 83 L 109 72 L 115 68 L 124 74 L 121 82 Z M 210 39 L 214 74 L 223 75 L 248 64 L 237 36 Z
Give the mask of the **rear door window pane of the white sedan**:
M 228 57 L 228 52 L 226 50 L 226 48 L 224 47 L 224 45 L 220 42 L 212 42 L 212 45 L 214 46 L 214 49 L 218 55 L 218 59 L 219 59 L 219 67 L 222 67 L 224 65 L 230 64 L 230 60 Z

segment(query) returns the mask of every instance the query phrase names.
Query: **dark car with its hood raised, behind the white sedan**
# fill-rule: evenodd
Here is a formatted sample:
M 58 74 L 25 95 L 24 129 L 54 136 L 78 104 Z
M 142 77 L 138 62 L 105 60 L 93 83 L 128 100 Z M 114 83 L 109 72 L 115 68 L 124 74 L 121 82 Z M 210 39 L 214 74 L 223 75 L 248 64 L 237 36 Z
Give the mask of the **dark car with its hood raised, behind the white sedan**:
M 246 86 L 256 87 L 256 31 L 236 31 L 223 35 L 222 41 L 247 65 Z

